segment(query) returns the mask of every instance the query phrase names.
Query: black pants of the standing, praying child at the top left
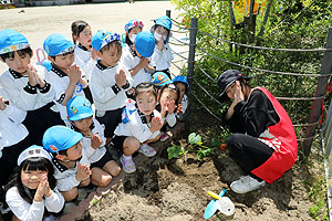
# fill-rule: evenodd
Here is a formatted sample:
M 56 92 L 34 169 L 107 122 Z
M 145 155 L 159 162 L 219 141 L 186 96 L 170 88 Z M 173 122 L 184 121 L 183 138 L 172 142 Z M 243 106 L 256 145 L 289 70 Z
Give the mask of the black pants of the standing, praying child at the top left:
M 64 125 L 60 113 L 50 109 L 54 105 L 53 102 L 34 110 L 29 110 L 24 122 L 22 123 L 29 130 L 30 140 L 34 145 L 42 146 L 42 139 L 45 130 L 54 125 Z

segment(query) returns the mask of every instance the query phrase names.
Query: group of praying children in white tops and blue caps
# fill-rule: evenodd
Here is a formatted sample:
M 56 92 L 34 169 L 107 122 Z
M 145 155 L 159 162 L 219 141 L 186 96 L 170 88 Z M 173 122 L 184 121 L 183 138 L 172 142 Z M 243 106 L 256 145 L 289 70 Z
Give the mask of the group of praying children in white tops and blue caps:
M 160 17 L 143 28 L 131 20 L 122 41 L 75 21 L 73 42 L 45 39 L 46 69 L 31 64 L 24 35 L 0 31 L 0 60 L 9 67 L 0 75 L 0 196 L 13 219 L 42 220 L 75 200 L 79 187 L 107 186 L 121 169 L 135 172 L 132 155 L 155 156 L 148 144 L 167 139 L 168 127 L 184 119 L 188 83 L 170 80 L 172 21 Z M 122 168 L 108 148 L 121 152 Z

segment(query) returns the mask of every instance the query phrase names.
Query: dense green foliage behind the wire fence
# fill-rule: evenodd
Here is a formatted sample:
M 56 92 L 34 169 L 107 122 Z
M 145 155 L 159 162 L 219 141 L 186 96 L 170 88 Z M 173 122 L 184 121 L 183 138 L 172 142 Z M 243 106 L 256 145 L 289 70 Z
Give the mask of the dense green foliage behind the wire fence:
M 330 1 L 274 0 L 268 22 L 264 24 L 264 32 L 259 36 L 263 25 L 267 4 L 259 10 L 255 31 L 248 31 L 248 23 L 242 22 L 237 23 L 235 28 L 231 27 L 228 1 L 172 0 L 172 2 L 177 9 L 183 11 L 178 20 L 184 25 L 190 25 L 190 18 L 198 18 L 198 29 L 203 32 L 234 42 L 267 48 L 324 48 L 329 25 L 332 23 L 332 2 Z M 237 20 L 237 22 L 239 21 Z M 250 34 L 253 34 L 253 42 L 248 42 Z M 314 94 L 318 77 L 262 73 L 225 61 L 274 72 L 319 74 L 323 56 L 321 52 L 280 52 L 245 49 L 200 32 L 197 34 L 197 45 L 222 60 L 217 60 L 196 50 L 196 53 L 200 54 L 197 56 L 196 64 L 215 80 L 228 69 L 238 69 L 245 75 L 253 76 L 250 81 L 252 87 L 267 87 L 276 97 L 311 97 Z M 218 97 L 220 92 L 216 83 L 207 78 L 197 67 L 195 69 L 195 80 L 214 97 Z M 219 105 L 195 83 L 193 91 L 216 115 L 220 116 L 227 109 L 228 104 L 222 103 L 222 105 Z M 281 104 L 294 124 L 308 123 L 312 101 L 281 101 Z M 299 138 L 303 137 L 305 133 L 304 127 L 297 127 L 295 130 Z

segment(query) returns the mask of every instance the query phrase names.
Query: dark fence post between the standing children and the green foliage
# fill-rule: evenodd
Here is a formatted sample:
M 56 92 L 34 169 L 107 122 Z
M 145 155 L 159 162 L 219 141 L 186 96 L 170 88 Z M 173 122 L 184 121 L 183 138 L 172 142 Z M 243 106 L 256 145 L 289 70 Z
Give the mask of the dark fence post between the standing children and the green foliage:
M 193 78 L 194 78 L 194 64 L 195 64 L 195 49 L 196 49 L 196 36 L 197 36 L 197 27 L 198 27 L 198 19 L 191 18 L 190 22 L 190 42 L 189 42 L 189 55 L 188 55 L 188 70 L 187 70 L 187 78 L 188 78 L 188 95 L 189 95 L 189 105 L 187 109 L 187 117 L 186 117 L 186 129 L 190 128 L 190 120 L 189 117 L 193 113 L 191 110 L 191 102 L 193 102 Z

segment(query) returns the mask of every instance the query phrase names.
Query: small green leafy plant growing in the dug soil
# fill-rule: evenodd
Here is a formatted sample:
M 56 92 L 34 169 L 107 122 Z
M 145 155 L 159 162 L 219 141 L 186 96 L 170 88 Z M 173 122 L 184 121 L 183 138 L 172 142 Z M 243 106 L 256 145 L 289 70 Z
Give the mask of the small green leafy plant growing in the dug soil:
M 190 145 L 189 148 L 187 149 L 185 149 L 179 145 L 172 145 L 170 147 L 168 147 L 167 149 L 168 159 L 177 158 L 178 156 L 184 155 L 186 161 L 186 157 L 188 152 L 197 152 L 197 158 L 201 160 L 215 150 L 215 148 L 203 145 L 201 136 L 196 135 L 195 133 L 189 134 L 188 143 Z

